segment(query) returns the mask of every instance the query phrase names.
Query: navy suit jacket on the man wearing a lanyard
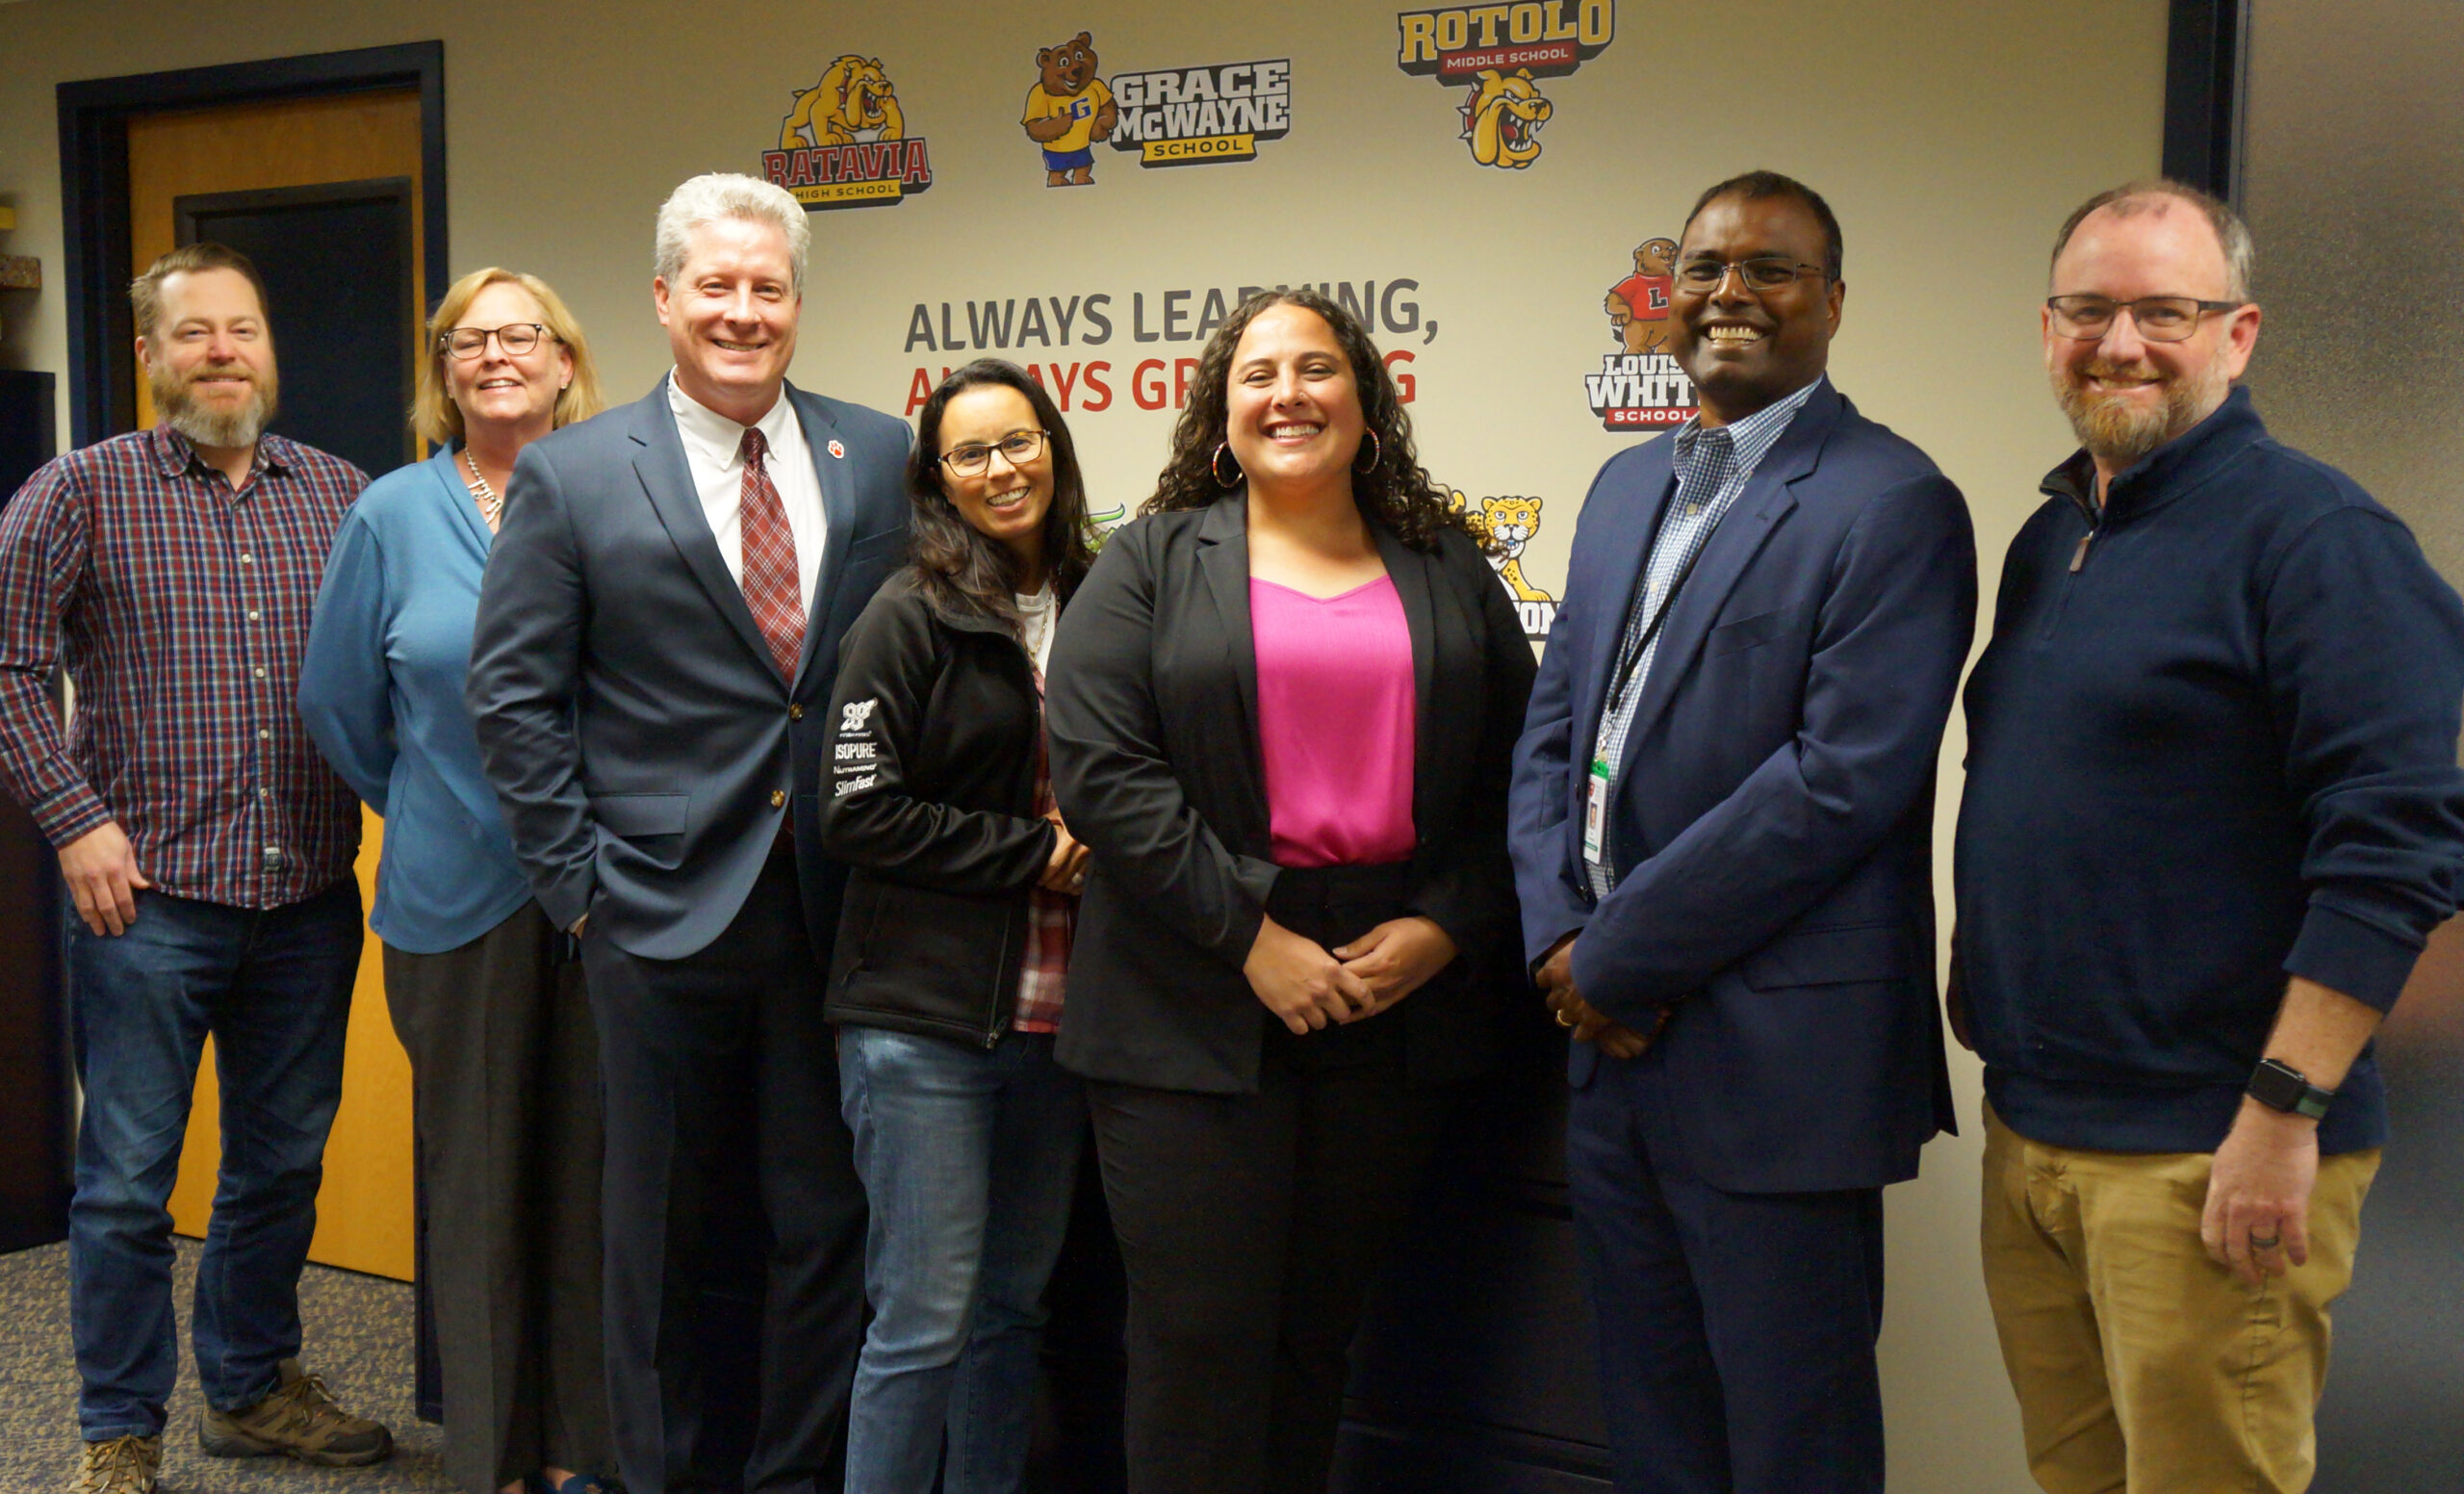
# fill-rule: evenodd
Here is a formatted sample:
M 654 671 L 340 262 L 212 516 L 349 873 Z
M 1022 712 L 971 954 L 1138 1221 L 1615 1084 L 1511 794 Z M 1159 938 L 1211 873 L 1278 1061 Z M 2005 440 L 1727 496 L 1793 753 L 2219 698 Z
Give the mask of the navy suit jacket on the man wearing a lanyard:
M 1934 762 L 1976 626 L 1959 488 L 1821 385 L 1710 535 L 1661 629 L 1594 905 L 1582 811 L 1673 439 L 1609 459 L 1574 533 L 1515 747 L 1523 942 L 1661 1035 L 1693 1169 L 1745 1193 L 1910 1178 L 1951 1129 L 1934 994 Z M 1570 1077 L 1602 1060 L 1587 1043 Z

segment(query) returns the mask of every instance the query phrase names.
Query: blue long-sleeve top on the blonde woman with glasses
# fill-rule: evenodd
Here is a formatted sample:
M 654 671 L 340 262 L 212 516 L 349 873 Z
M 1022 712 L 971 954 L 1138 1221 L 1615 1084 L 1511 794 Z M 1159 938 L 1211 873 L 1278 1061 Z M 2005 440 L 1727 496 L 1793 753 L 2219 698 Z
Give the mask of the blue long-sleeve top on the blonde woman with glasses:
M 439 954 L 505 922 L 530 883 L 463 708 L 488 523 L 453 451 L 392 471 L 342 518 L 301 668 L 301 720 L 384 816 L 377 937 Z

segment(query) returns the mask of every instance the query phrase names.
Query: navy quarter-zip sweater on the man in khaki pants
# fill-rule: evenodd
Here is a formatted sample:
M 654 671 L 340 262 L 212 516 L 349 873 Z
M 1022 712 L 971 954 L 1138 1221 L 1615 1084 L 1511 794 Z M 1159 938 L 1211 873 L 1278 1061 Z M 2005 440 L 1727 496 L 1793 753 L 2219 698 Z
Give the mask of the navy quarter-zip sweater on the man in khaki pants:
M 2464 604 L 2245 390 L 2045 478 L 1969 678 L 1959 979 L 2023 1137 L 2213 1151 L 2287 974 L 2395 1003 L 2464 873 Z M 2319 1149 L 2388 1132 L 2373 1055 Z

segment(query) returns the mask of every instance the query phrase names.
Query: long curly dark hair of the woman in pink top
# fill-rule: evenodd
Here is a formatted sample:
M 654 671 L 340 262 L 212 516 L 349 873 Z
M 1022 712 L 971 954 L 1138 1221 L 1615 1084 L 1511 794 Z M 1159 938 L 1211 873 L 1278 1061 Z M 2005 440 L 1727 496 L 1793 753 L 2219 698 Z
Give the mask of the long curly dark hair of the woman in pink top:
M 1353 500 L 1360 505 L 1360 513 L 1395 530 L 1414 550 L 1434 550 L 1437 537 L 1446 530 L 1469 535 L 1483 552 L 1496 550 L 1496 542 L 1454 508 L 1446 491 L 1429 481 L 1429 471 L 1419 466 L 1419 454 L 1412 449 L 1412 417 L 1402 412 L 1395 380 L 1387 377 L 1385 360 L 1377 355 L 1377 345 L 1370 343 L 1368 328 L 1360 325 L 1358 316 L 1308 286 L 1259 291 L 1242 301 L 1225 325 L 1215 328 L 1205 353 L 1198 355 L 1198 377 L 1190 380 L 1190 404 L 1173 427 L 1173 456 L 1156 478 L 1156 496 L 1138 513 L 1205 508 L 1225 493 L 1237 491 L 1225 488 L 1215 476 L 1215 449 L 1225 444 L 1232 350 L 1239 348 L 1242 333 L 1269 306 L 1316 311 L 1333 328 L 1335 345 L 1343 348 L 1343 355 L 1353 365 L 1353 385 L 1360 387 L 1360 414 L 1368 429 L 1377 434 L 1377 466 L 1370 471 L 1353 468 Z M 1230 451 L 1225 459 L 1230 459 Z

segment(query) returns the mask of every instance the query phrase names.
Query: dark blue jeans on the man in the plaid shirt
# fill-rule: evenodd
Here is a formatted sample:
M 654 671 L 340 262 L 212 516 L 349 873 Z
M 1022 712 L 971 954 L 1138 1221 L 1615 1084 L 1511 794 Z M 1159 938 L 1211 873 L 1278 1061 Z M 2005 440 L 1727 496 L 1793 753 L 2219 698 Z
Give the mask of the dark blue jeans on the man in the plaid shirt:
M 222 1176 L 197 1265 L 197 1378 L 214 1410 L 264 1400 L 301 1351 L 325 1132 L 360 971 L 360 885 L 251 912 L 136 895 L 126 934 L 69 917 L 76 1077 L 69 1324 L 89 1442 L 163 1430 L 180 1373 L 170 1188 L 205 1035 L 222 1085 Z

